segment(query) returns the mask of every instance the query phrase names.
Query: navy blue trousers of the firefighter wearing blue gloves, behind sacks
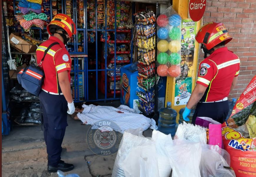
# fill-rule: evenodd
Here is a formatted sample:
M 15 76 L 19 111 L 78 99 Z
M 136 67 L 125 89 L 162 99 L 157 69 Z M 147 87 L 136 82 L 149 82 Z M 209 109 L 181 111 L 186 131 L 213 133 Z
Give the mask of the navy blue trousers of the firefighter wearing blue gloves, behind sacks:
M 223 123 L 229 112 L 228 101 L 214 103 L 198 103 L 192 119 L 192 124 L 195 125 L 196 117 L 208 117 Z

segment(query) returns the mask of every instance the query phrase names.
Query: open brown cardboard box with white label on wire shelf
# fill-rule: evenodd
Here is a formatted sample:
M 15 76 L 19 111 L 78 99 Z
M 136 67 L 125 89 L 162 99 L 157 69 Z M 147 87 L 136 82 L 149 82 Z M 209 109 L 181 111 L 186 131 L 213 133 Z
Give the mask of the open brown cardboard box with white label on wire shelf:
M 9 42 L 12 46 L 14 46 L 14 48 L 24 53 L 36 52 L 37 45 L 32 45 L 19 36 L 20 36 L 20 33 L 11 33 L 11 35 L 9 36 L 9 40 L 10 40 Z M 31 38 L 29 35 L 24 34 L 24 36 L 28 37 L 31 40 L 35 40 Z

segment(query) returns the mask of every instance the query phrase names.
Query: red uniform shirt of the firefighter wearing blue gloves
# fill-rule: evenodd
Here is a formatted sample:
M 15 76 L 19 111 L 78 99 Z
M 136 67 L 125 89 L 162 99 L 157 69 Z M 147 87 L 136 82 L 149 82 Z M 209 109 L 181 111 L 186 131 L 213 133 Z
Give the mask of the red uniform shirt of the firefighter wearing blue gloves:
M 229 95 L 234 77 L 240 72 L 240 59 L 222 47 L 199 64 L 197 84 L 207 87 L 201 102 L 219 101 Z

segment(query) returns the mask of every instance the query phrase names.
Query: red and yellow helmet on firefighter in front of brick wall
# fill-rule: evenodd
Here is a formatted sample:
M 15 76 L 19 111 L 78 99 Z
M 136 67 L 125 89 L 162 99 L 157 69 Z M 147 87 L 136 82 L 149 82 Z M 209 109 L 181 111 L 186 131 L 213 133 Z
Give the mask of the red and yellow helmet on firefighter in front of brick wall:
M 222 23 L 206 23 L 196 34 L 196 41 L 198 43 L 203 43 L 208 50 L 223 41 L 227 44 L 231 40 L 232 37 Z

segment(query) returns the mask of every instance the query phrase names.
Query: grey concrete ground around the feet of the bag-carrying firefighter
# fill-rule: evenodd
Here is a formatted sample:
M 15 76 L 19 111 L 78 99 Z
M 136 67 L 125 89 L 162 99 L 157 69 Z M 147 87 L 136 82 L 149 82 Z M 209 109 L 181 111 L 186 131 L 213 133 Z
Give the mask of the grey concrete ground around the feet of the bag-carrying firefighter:
M 69 126 L 62 143 L 62 160 L 75 169 L 67 172 L 80 177 L 110 176 L 115 155 L 100 157 L 87 147 L 86 133 L 90 125 L 68 116 Z M 88 163 L 87 163 L 87 161 Z M 47 172 L 47 153 L 41 126 L 14 126 L 10 135 L 2 137 L 2 176 L 44 177 L 57 176 Z

